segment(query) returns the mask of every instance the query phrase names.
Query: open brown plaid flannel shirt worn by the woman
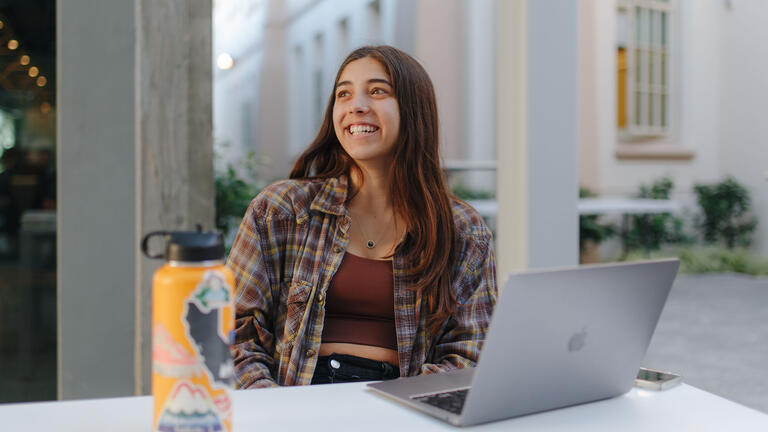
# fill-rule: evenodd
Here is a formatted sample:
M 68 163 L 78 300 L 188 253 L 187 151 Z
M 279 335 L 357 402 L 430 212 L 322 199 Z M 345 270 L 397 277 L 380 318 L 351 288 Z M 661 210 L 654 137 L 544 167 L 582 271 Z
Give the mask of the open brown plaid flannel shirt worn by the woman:
M 347 180 L 285 180 L 264 189 L 243 218 L 227 265 L 235 274 L 238 388 L 310 384 L 325 320 L 325 292 L 349 242 Z M 450 269 L 456 313 L 431 336 L 427 301 L 392 260 L 400 376 L 474 366 L 497 289 L 492 235 L 453 200 L 458 260 Z

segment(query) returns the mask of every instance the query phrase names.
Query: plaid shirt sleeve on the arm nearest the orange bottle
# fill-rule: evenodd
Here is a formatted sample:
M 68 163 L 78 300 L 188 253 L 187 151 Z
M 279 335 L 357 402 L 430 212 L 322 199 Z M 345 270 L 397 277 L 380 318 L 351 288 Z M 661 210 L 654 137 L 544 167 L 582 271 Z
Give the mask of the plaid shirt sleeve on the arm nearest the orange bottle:
M 235 330 L 231 349 L 235 362 L 237 388 L 276 387 L 272 378 L 275 336 L 272 323 L 272 284 L 268 276 L 268 261 L 274 257 L 267 251 L 259 224 L 258 198 L 245 213 L 227 265 L 235 274 Z

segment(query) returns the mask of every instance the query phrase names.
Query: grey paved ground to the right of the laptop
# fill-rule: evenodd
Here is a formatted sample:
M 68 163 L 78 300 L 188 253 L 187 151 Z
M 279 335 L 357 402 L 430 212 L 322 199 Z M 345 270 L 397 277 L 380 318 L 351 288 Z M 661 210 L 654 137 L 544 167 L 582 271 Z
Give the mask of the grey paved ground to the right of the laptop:
M 678 276 L 644 366 L 768 413 L 768 278 Z

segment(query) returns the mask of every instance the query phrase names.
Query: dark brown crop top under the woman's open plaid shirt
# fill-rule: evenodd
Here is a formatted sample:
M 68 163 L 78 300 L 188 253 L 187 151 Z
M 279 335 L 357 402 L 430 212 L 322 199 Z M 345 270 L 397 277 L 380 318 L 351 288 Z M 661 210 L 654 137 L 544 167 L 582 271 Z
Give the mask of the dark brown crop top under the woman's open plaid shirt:
M 392 261 L 347 252 L 326 292 L 322 342 L 397 350 Z

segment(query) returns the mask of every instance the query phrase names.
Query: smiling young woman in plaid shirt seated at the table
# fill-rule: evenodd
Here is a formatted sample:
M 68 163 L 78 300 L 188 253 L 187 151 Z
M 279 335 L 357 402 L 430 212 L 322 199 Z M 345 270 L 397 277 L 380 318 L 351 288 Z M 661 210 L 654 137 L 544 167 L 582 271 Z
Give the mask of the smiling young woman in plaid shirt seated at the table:
M 432 82 L 363 47 L 290 180 L 251 203 L 230 252 L 239 388 L 474 366 L 496 302 L 491 233 L 446 189 Z

